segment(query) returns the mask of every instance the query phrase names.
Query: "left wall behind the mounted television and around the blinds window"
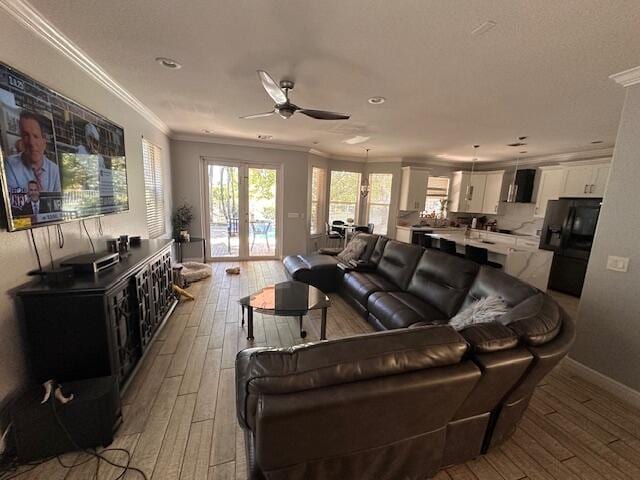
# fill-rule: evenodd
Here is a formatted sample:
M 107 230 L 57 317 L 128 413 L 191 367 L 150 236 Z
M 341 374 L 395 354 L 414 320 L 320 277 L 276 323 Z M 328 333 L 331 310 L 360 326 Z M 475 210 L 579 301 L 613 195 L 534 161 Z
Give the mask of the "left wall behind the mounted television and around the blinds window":
M 58 90 L 64 95 L 86 105 L 124 128 L 127 155 L 127 176 L 131 210 L 126 213 L 103 217 L 105 237 L 120 234 L 147 235 L 144 201 L 141 136 L 162 148 L 165 160 L 165 189 L 167 215 L 171 207 L 169 142 L 167 137 L 138 113 L 98 86 L 78 67 L 50 48 L 39 38 L 19 26 L 6 13 L 0 13 L 0 59 L 22 72 Z M 87 227 L 97 237 L 95 221 L 89 220 Z M 167 228 L 170 228 L 167 224 Z M 90 252 L 86 237 L 81 234 L 79 223 L 62 227 L 65 235 L 63 249 L 53 247 L 54 259 L 75 253 Z M 49 263 L 46 251 L 46 229 L 36 229 L 35 236 L 40 255 Z M 95 240 L 94 240 L 95 242 Z M 97 241 L 104 247 L 104 240 Z M 8 233 L 6 225 L 0 229 L 0 409 L 10 396 L 28 381 L 28 355 L 25 352 L 21 328 L 20 309 L 17 308 L 13 290 L 30 280 L 29 270 L 37 268 L 33 248 L 27 232 Z

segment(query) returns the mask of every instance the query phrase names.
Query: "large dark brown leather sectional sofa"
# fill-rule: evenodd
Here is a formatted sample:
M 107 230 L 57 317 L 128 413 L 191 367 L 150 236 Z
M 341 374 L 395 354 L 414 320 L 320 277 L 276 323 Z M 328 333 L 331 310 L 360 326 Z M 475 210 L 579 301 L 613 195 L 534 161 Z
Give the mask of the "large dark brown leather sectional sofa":
M 369 241 L 357 268 L 326 256 L 284 263 L 293 278 L 337 288 L 383 332 L 238 354 L 252 479 L 428 478 L 508 439 L 573 342 L 566 313 L 518 279 L 436 250 Z M 500 322 L 446 325 L 488 295 L 511 307 Z

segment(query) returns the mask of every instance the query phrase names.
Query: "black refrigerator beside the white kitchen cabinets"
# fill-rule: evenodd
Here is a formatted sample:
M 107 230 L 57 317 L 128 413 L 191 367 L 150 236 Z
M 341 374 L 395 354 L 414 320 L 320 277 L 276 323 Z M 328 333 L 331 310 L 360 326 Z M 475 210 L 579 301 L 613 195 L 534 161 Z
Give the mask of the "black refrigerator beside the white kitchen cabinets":
M 582 293 L 601 205 L 601 198 L 549 200 L 540 237 L 540 248 L 554 252 L 548 288 Z

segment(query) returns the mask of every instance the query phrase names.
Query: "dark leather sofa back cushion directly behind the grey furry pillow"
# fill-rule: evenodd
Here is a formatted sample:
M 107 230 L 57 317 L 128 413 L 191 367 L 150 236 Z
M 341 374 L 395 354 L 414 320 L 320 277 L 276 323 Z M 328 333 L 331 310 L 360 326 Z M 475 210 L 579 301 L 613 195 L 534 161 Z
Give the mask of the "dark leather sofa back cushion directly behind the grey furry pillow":
M 489 296 L 500 297 L 508 307 L 514 307 L 537 292 L 536 288 L 522 280 L 483 265 L 471 284 L 461 308 L 467 308 L 473 302 Z

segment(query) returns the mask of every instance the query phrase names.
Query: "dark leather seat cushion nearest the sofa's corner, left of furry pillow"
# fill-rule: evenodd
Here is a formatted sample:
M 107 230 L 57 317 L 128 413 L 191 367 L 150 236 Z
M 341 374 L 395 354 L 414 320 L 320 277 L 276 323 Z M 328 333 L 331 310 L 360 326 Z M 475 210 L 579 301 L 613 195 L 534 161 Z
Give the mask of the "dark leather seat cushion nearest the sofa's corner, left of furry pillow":
M 417 322 L 447 321 L 444 313 L 407 292 L 375 292 L 369 297 L 367 310 L 388 330 Z

